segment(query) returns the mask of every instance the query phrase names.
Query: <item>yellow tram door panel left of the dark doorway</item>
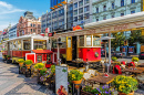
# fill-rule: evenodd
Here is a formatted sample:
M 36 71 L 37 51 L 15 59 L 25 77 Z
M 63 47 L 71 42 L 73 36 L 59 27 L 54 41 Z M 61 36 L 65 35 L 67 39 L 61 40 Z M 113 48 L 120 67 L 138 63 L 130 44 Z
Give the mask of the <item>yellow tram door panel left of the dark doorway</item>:
M 66 61 L 72 61 L 72 36 L 66 36 Z

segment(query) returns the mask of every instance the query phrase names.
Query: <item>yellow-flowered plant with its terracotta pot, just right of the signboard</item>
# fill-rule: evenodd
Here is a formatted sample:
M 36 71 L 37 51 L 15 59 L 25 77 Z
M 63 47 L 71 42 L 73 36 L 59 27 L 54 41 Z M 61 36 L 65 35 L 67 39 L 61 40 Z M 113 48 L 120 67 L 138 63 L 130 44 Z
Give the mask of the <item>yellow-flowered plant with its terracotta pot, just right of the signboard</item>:
M 73 83 L 73 84 L 81 84 L 83 77 L 83 73 L 78 71 L 78 70 L 72 70 L 69 73 L 68 78 Z

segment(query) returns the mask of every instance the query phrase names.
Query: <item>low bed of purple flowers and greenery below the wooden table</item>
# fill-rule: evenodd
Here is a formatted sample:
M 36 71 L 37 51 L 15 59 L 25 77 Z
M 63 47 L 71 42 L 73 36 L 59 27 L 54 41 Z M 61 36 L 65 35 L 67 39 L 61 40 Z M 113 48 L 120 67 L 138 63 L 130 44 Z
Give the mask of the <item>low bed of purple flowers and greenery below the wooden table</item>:
M 92 88 L 90 86 L 85 86 L 82 91 L 94 94 L 94 95 L 97 95 L 97 94 L 101 94 L 101 95 L 114 95 L 113 89 L 110 88 L 107 85 L 100 86 L 97 88 Z

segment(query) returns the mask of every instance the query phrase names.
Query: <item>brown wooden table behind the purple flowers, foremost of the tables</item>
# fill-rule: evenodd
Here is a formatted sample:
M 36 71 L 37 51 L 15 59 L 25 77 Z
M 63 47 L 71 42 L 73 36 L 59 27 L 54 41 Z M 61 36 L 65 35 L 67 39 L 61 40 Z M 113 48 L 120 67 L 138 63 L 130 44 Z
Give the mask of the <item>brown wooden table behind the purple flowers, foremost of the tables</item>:
M 110 84 L 113 82 L 113 80 L 115 77 L 116 77 L 116 75 L 114 75 L 114 74 L 109 74 L 107 77 L 105 77 L 104 74 L 102 74 L 102 75 L 96 75 L 96 76 L 90 77 L 89 81 L 97 82 L 100 84 Z

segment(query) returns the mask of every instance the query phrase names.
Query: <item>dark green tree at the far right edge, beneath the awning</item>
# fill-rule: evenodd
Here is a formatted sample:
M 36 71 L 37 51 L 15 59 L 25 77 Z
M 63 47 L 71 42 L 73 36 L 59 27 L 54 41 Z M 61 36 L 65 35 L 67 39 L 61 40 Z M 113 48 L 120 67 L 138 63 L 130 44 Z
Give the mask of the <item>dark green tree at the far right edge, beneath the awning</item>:
M 134 30 L 131 32 L 128 38 L 128 45 L 134 45 L 135 42 L 144 43 L 144 39 L 142 36 L 142 30 Z

